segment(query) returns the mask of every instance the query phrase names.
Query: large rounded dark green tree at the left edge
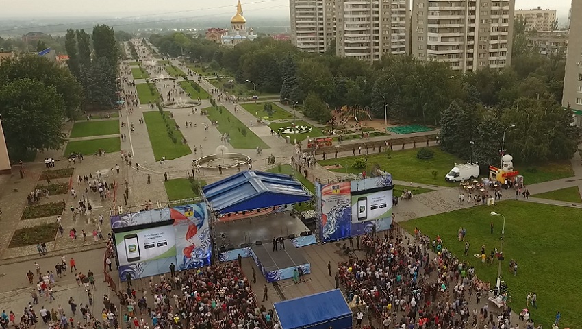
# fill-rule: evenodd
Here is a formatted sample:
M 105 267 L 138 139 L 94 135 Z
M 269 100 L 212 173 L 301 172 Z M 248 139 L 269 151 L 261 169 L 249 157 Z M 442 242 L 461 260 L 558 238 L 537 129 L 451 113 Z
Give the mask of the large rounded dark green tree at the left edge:
M 12 158 L 27 149 L 59 149 L 65 105 L 55 86 L 29 78 L 0 86 L 0 114 Z

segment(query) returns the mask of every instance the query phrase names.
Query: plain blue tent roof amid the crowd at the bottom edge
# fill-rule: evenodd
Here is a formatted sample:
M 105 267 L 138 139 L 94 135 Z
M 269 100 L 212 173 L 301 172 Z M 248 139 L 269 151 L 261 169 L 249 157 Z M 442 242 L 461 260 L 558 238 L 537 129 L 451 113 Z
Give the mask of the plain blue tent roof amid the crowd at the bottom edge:
M 352 328 L 352 311 L 340 289 L 273 304 L 281 329 Z

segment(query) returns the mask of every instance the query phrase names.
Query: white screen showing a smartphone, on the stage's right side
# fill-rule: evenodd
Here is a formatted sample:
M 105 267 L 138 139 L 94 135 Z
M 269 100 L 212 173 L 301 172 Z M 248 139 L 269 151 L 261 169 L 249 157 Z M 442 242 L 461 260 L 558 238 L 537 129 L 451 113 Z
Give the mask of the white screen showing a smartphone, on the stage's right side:
M 389 230 L 392 222 L 392 175 L 354 180 L 351 190 L 351 236 Z

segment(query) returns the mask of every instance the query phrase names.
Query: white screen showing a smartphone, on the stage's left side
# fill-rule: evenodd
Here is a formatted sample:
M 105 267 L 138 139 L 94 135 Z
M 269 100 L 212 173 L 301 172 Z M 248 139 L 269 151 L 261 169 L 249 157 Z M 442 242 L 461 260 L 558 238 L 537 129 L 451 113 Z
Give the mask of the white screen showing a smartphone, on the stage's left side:
M 176 261 L 174 228 L 171 225 L 115 233 L 119 278 L 125 281 L 170 271 Z

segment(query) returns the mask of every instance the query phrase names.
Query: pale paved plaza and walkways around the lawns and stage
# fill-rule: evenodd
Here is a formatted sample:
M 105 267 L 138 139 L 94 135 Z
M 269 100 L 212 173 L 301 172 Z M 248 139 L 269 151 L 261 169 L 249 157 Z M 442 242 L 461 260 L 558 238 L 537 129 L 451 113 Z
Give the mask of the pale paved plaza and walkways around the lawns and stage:
M 135 40 L 134 40 L 135 41 Z M 142 60 L 145 62 L 147 59 L 151 58 L 151 53 L 149 49 L 140 46 L 140 43 L 135 42 L 136 47 L 141 47 L 138 51 Z M 126 53 L 131 53 L 129 49 L 128 42 L 125 42 Z M 154 47 L 155 49 L 155 47 Z M 131 60 L 133 61 L 133 60 Z M 130 61 L 124 62 L 122 65 L 125 66 Z M 170 59 L 170 63 L 180 67 L 184 72 L 188 72 L 179 60 L 173 58 Z M 155 66 L 144 65 L 144 69 L 149 73 L 151 77 L 168 77 L 169 73 L 164 69 L 163 65 L 157 64 Z M 161 71 L 161 73 L 158 73 Z M 129 75 L 124 76 L 127 82 L 145 83 L 145 80 L 134 80 Z M 198 81 L 197 75 L 188 75 L 188 79 L 191 81 Z M 171 92 L 174 88 L 180 88 L 178 82 L 184 81 L 182 77 L 176 80 L 157 80 L 155 81 L 155 88 L 159 88 L 160 95 L 166 95 Z M 165 85 L 168 85 L 166 87 Z M 201 88 L 207 90 L 207 92 L 212 94 L 212 89 L 214 86 L 207 80 L 202 79 L 199 82 Z M 124 87 L 128 91 L 134 92 L 136 89 L 129 86 L 129 84 L 124 84 Z M 218 94 L 214 94 L 218 96 Z M 190 101 L 190 97 L 183 93 L 181 95 L 175 95 L 175 101 L 186 102 Z M 292 112 L 292 108 L 275 101 L 277 106 Z M 286 141 L 281 138 L 273 136 L 270 134 L 270 128 L 261 125 L 252 125 L 251 122 L 255 121 L 255 117 L 246 112 L 246 110 L 235 110 L 235 104 L 231 101 L 220 102 L 227 111 L 229 111 L 234 117 L 239 119 L 246 127 L 255 132 L 269 149 L 264 149 L 263 154 L 257 156 L 255 149 L 234 149 L 231 145 L 225 145 L 229 151 L 246 154 L 253 159 L 253 169 L 255 170 L 265 170 L 273 167 L 272 164 L 268 164 L 267 158 L 271 154 L 275 156 L 276 163 L 279 164 L 290 164 L 290 158 L 294 154 L 294 146 L 286 143 Z M 121 117 L 119 121 L 126 123 L 125 127 L 121 127 L 120 134 L 125 134 L 127 138 L 121 141 L 121 149 L 125 154 L 131 152 L 131 161 L 134 165 L 129 167 L 121 158 L 119 153 L 107 153 L 103 156 L 93 156 L 86 155 L 82 162 L 77 161 L 76 163 L 71 163 L 64 156 L 64 149 L 55 151 L 45 151 L 41 152 L 37 156 L 37 162 L 25 164 L 25 177 L 20 178 L 18 175 L 18 170 L 13 170 L 14 173 L 8 176 L 0 176 L 0 209 L 3 214 L 0 215 L 0 223 L 2 225 L 2 230 L 0 230 L 0 307 L 2 310 L 14 310 L 15 313 L 21 314 L 23 308 L 31 302 L 31 292 L 36 287 L 29 284 L 25 274 L 27 271 L 34 271 L 34 262 L 38 262 L 42 271 L 52 270 L 54 271 L 54 266 L 60 260 L 62 255 L 66 258 L 74 257 L 77 261 L 77 269 L 81 272 L 86 273 L 92 270 L 95 273 L 95 278 L 97 280 L 97 287 L 92 291 L 92 296 L 94 298 L 94 304 L 90 307 L 94 315 L 99 315 L 101 313 L 101 308 L 103 308 L 103 295 L 112 295 L 114 302 L 118 303 L 115 292 L 110 291 L 107 284 L 103 282 L 103 254 L 105 252 L 105 243 L 107 241 L 107 234 L 111 232 L 109 225 L 109 217 L 112 214 L 112 209 L 114 206 L 113 197 L 101 200 L 98 194 L 87 193 L 89 202 L 93 205 L 92 212 L 88 215 L 79 215 L 73 217 L 72 212 L 68 210 L 70 205 L 77 204 L 79 197 L 72 197 L 70 193 L 63 195 L 55 195 L 48 198 L 43 198 L 40 203 L 47 204 L 49 202 L 65 202 L 65 210 L 62 215 L 62 226 L 64 227 L 64 236 L 57 234 L 55 241 L 47 243 L 47 256 L 38 256 L 36 245 L 29 245 L 25 247 L 14 247 L 8 248 L 8 244 L 14 234 L 15 230 L 36 226 L 42 223 L 54 223 L 56 221 L 55 217 L 45 217 L 38 219 L 26 219 L 21 220 L 21 215 L 23 214 L 23 209 L 27 204 L 27 195 L 30 191 L 33 191 L 37 184 L 45 184 L 46 182 L 39 181 L 40 174 L 45 170 L 45 165 L 42 160 L 47 157 L 55 158 L 56 165 L 55 169 L 64 169 L 67 167 L 73 167 L 74 173 L 71 178 L 73 188 L 79 191 L 79 195 L 84 194 L 85 184 L 78 182 L 77 177 L 79 175 L 97 175 L 101 173 L 103 179 L 109 182 L 111 185 L 117 184 L 119 186 L 118 194 L 116 195 L 115 204 L 116 206 L 123 206 L 124 212 L 131 211 L 137 212 L 144 208 L 149 200 L 155 204 L 160 201 L 164 206 L 168 202 L 168 196 L 166 195 L 166 190 L 164 188 L 164 173 L 168 175 L 168 179 L 173 178 L 188 178 L 188 174 L 192 171 L 192 160 L 196 160 L 201 156 L 215 154 L 217 148 L 223 145 L 220 140 L 220 132 L 218 129 L 210 125 L 207 130 L 204 128 L 204 123 L 208 123 L 210 120 L 201 114 L 199 110 L 201 108 L 210 107 L 210 101 L 207 99 L 201 100 L 201 103 L 192 108 L 173 108 L 167 109 L 173 112 L 173 118 L 180 125 L 180 130 L 188 146 L 192 151 L 197 149 L 197 154 L 188 154 L 186 156 L 181 156 L 173 160 L 166 160 L 165 162 L 157 161 L 153 154 L 152 145 L 148 136 L 147 124 L 140 124 L 140 118 L 144 117 L 144 112 L 147 111 L 157 111 L 157 108 L 151 108 L 149 104 L 140 104 L 140 106 L 129 110 L 129 106 L 125 103 L 125 107 L 120 110 Z M 192 113 L 192 109 L 196 108 L 198 111 L 196 114 Z M 308 118 L 303 117 L 303 114 L 299 113 L 297 115 L 298 119 L 307 121 L 316 127 L 321 127 L 319 123 L 316 123 Z M 194 127 L 186 127 L 184 123 L 192 122 Z M 129 127 L 133 125 L 135 127 L 135 132 L 130 132 Z M 73 123 L 66 123 L 64 130 L 70 132 L 73 127 Z M 436 134 L 435 132 L 427 133 L 417 133 L 411 134 L 414 136 L 429 136 L 431 134 Z M 107 135 L 119 138 L 120 134 Z M 90 138 L 101 138 L 102 136 L 90 137 Z M 383 136 L 380 138 L 372 138 L 373 141 L 383 141 L 390 138 L 398 138 L 396 135 Z M 434 144 L 431 144 L 434 145 Z M 405 149 L 412 148 L 413 145 L 405 145 Z M 349 152 L 344 152 L 340 156 L 349 156 Z M 140 170 L 137 170 L 135 164 L 138 163 Z M 121 167 L 119 173 L 114 169 L 116 165 Z M 572 167 L 574 169 L 575 177 L 555 180 L 551 182 L 544 182 L 540 184 L 533 184 L 528 186 L 529 191 L 532 193 L 543 193 L 547 191 L 555 191 L 559 188 L 565 188 L 570 186 L 582 187 L 582 160 L 579 154 L 575 154 L 572 159 Z M 222 178 L 227 177 L 236 172 L 236 169 L 225 169 L 223 174 L 220 175 L 218 171 L 214 169 L 202 169 L 200 174 L 197 174 L 197 178 L 202 178 L 207 183 L 216 182 Z M 151 182 L 148 183 L 148 176 L 151 178 Z M 307 178 L 314 181 L 315 178 L 322 182 L 329 180 L 336 180 L 340 177 L 340 174 L 333 173 L 327 169 L 316 164 L 313 168 L 310 168 L 307 173 Z M 412 185 L 412 182 L 403 182 L 398 180 L 398 177 L 394 178 L 394 183 L 398 185 L 408 186 Z M 61 178 L 58 180 L 53 180 L 53 182 L 69 183 L 69 178 Z M 127 182 L 127 183 L 126 183 Z M 127 184 L 129 189 L 129 197 L 127 199 L 127 204 L 123 200 L 123 188 Z M 471 203 L 459 203 L 457 202 L 457 195 L 459 191 L 457 188 L 447 188 L 442 186 L 433 186 L 426 184 L 416 184 L 414 186 L 430 188 L 431 192 L 422 193 L 416 195 L 412 200 L 406 201 L 402 200 L 399 202 L 398 206 L 394 206 L 394 215 L 396 221 L 407 221 L 409 219 L 414 219 L 418 217 L 425 217 L 429 215 L 435 215 L 442 212 L 449 212 L 452 210 L 457 210 L 459 208 L 468 208 L 474 206 Z M 581 188 L 582 190 L 582 188 Z M 504 199 L 513 199 L 512 195 L 505 193 Z M 559 202 L 546 199 L 537 199 L 535 197 L 530 197 L 529 200 L 523 200 L 523 202 L 541 202 L 546 204 L 556 204 L 559 206 L 569 206 L 582 208 L 582 204 L 572 204 L 567 202 Z M 102 215 L 105 218 L 103 225 L 99 225 L 98 217 Z M 276 219 L 276 218 L 275 218 Z M 249 224 L 251 226 L 251 224 Z M 68 231 L 71 228 L 77 230 L 77 234 L 81 230 L 85 230 L 88 235 L 86 240 L 82 236 L 77 236 L 77 239 L 71 239 L 68 236 Z M 100 228 L 105 236 L 104 240 L 94 241 L 90 232 L 95 228 Z M 244 228 L 239 226 L 236 227 L 238 232 L 243 232 Z M 240 237 L 239 237 L 240 238 Z M 237 240 L 238 242 L 243 242 L 244 237 Z M 301 284 L 293 284 L 291 280 L 286 280 L 279 282 L 277 285 L 270 285 L 268 291 L 268 303 L 277 302 L 280 300 L 288 300 L 294 297 L 301 297 L 304 295 L 309 295 L 312 293 L 318 293 L 320 291 L 326 291 L 333 289 L 335 287 L 333 276 L 329 276 L 327 271 L 327 263 L 331 262 L 333 265 L 333 273 L 335 273 L 335 265 L 340 261 L 346 261 L 347 256 L 342 254 L 342 244 L 345 242 L 327 243 L 325 245 L 312 245 L 309 247 L 301 248 L 301 253 L 309 263 L 311 263 L 312 273 L 306 276 L 305 282 Z M 364 258 L 365 254 L 362 250 L 358 250 L 356 255 L 359 258 Z M 253 271 L 255 264 L 251 258 L 244 258 L 242 260 L 242 270 L 246 274 L 247 278 L 251 278 L 251 273 Z M 68 269 L 67 269 L 68 270 Z M 110 273 L 112 278 L 116 280 L 117 286 L 119 288 L 126 287 L 125 284 L 119 282 L 118 273 L 113 266 L 113 271 Z M 159 282 L 160 278 L 153 278 L 155 282 Z M 249 279 L 250 280 L 250 279 Z M 262 295 L 263 287 L 266 284 L 266 279 L 260 275 L 257 275 L 257 282 L 251 281 L 251 287 L 258 297 Z M 148 282 L 145 279 L 136 280 L 134 282 L 134 289 L 138 291 L 147 291 Z M 59 278 L 55 282 L 54 295 L 56 300 L 49 303 L 45 300 L 45 297 L 40 297 L 38 306 L 35 310 L 40 309 L 40 306 L 45 306 L 47 309 L 57 308 L 58 305 L 70 313 L 68 308 L 68 300 L 70 297 L 77 302 L 80 306 L 82 303 L 88 303 L 88 294 L 82 287 L 78 287 L 75 282 L 73 273 L 68 272 L 66 277 Z M 150 296 L 151 297 L 151 296 Z M 260 301 L 260 298 L 259 298 Z M 118 304 L 119 306 L 119 304 Z M 482 306 L 482 305 L 481 305 Z M 470 308 L 481 307 L 476 303 L 472 302 Z M 271 305 L 272 307 L 272 305 Z M 514 315 L 517 318 L 517 315 Z M 81 321 L 80 313 L 75 316 L 76 321 Z M 524 326 L 524 322 L 519 323 L 520 326 Z M 41 328 L 44 328 L 44 324 L 40 324 Z M 375 323 L 378 328 L 380 323 Z

